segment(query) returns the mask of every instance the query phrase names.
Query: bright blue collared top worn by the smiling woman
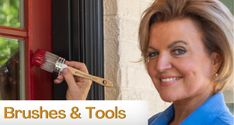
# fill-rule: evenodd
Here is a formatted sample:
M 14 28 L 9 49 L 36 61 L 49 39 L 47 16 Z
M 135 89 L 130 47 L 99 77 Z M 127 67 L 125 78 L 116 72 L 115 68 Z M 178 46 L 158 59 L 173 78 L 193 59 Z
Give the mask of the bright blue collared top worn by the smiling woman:
M 171 105 L 165 111 L 149 119 L 149 125 L 169 125 L 174 117 Z M 201 106 L 193 111 L 180 125 L 234 125 L 234 116 L 227 108 L 222 93 L 209 97 Z

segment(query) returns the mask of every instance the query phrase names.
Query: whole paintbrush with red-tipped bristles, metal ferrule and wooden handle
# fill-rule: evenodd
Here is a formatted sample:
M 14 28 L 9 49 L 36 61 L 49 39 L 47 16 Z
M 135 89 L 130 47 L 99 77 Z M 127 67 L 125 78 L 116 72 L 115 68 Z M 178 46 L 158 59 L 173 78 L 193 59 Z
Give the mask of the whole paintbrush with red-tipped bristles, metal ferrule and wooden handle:
M 73 67 L 70 67 L 65 64 L 65 59 L 62 57 L 59 57 L 51 52 L 38 49 L 32 56 L 32 64 L 40 67 L 41 69 L 48 71 L 48 72 L 56 72 L 60 73 L 64 68 L 68 68 L 74 76 L 79 76 L 85 79 L 92 80 L 100 85 L 103 85 L 105 87 L 112 87 L 113 84 L 111 81 L 97 77 L 94 75 L 90 75 L 87 73 L 84 73 L 78 69 L 75 69 Z

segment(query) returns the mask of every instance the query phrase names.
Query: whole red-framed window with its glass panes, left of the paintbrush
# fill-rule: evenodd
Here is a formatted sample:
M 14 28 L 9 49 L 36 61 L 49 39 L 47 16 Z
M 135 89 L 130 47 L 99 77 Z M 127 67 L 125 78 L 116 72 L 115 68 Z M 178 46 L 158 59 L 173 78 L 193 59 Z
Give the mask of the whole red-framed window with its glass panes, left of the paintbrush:
M 39 48 L 51 50 L 51 0 L 1 0 L 0 99 L 52 98 L 50 74 L 30 63 Z

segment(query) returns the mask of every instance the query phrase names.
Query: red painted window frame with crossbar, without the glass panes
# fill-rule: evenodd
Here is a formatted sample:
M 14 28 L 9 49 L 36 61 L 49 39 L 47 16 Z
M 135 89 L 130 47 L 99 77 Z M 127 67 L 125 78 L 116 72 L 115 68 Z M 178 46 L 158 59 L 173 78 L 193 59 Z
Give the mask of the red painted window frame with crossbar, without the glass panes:
M 30 58 L 40 48 L 51 50 L 51 0 L 24 0 L 24 28 L 0 26 L 0 36 L 25 42 L 25 84 L 27 100 L 52 99 L 50 73 L 33 67 Z

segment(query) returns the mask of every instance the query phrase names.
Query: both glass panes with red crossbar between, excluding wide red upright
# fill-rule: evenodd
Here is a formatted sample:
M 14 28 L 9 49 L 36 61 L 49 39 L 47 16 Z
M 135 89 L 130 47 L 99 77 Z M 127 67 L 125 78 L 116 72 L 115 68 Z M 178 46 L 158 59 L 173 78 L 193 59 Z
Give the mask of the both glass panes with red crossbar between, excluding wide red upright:
M 25 98 L 23 11 L 23 0 L 0 1 L 0 99 Z

